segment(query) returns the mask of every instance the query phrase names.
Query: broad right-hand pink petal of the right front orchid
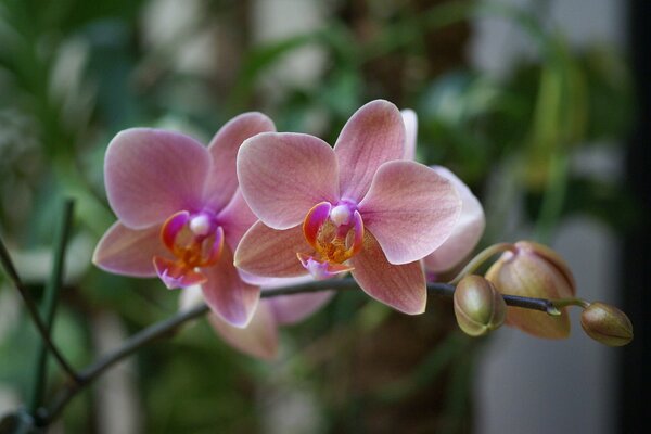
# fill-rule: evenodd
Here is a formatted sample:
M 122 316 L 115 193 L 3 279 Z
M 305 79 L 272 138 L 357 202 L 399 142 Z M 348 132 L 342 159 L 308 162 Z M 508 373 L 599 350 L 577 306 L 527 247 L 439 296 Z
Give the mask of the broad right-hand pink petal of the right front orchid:
M 407 264 L 447 240 L 461 213 L 461 200 L 451 182 L 427 166 L 388 162 L 378 170 L 359 212 L 388 261 Z

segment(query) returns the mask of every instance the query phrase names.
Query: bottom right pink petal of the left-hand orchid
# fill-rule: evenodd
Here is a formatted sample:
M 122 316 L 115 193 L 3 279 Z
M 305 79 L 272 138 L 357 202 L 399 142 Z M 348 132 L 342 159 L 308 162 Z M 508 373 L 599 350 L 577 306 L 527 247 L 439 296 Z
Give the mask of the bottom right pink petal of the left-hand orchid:
M 230 248 L 224 246 L 219 261 L 201 270 L 208 278 L 201 289 L 210 309 L 234 327 L 246 327 L 258 304 L 260 289 L 240 279 Z

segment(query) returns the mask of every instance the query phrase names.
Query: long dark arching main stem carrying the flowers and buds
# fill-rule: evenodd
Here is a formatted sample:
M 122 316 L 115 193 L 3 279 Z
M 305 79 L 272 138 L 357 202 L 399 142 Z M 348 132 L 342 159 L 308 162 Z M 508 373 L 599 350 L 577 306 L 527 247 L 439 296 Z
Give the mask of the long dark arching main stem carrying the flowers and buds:
M 353 278 L 339 280 L 321 280 L 297 285 L 277 288 L 266 290 L 260 294 L 261 298 L 277 297 L 281 295 L 304 294 L 320 291 L 347 291 L 358 290 L 359 286 Z M 451 297 L 455 294 L 455 285 L 449 283 L 427 283 L 427 292 L 442 296 Z M 553 302 L 544 298 L 518 297 L 513 295 L 503 295 L 506 303 L 510 306 L 524 307 L 552 314 L 558 311 Z M 101 357 L 89 367 L 81 370 L 75 383 L 68 383 L 60 392 L 54 399 L 54 403 L 48 409 L 40 409 L 36 414 L 37 423 L 46 426 L 51 423 L 67 403 L 74 398 L 77 393 L 91 384 L 108 368 L 123 360 L 124 358 L 138 352 L 143 346 L 165 336 L 173 335 L 179 327 L 193 319 L 200 318 L 209 311 L 208 306 L 201 304 L 188 310 L 179 311 L 178 314 L 156 322 L 140 332 L 127 339 L 117 349 L 106 356 Z

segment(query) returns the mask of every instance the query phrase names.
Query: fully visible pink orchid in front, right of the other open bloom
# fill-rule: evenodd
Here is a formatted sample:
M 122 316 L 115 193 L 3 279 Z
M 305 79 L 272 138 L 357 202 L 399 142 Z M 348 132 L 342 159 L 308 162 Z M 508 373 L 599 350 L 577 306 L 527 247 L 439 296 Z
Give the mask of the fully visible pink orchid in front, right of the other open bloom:
M 261 133 L 238 154 L 242 193 L 260 219 L 235 265 L 264 277 L 350 271 L 370 296 L 424 311 L 420 259 L 450 235 L 461 210 L 452 184 L 403 161 L 405 125 L 386 101 L 347 122 L 336 144 L 301 133 Z

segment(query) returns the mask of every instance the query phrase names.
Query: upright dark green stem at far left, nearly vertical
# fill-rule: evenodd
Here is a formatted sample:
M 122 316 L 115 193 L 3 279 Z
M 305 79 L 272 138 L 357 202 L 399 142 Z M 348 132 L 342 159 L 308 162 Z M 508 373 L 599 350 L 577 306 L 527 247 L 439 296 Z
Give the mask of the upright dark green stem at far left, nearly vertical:
M 46 284 L 41 312 L 44 318 L 44 327 L 48 336 L 51 339 L 52 324 L 54 323 L 54 314 L 56 311 L 56 302 L 63 284 L 63 272 L 65 268 L 65 251 L 67 239 L 71 233 L 73 221 L 74 201 L 68 199 L 63 203 L 61 215 L 61 225 L 54 238 L 54 251 L 52 259 L 52 271 L 50 279 Z M 34 388 L 29 403 L 29 411 L 34 413 L 42 403 L 43 391 L 47 384 L 48 347 L 43 341 L 39 341 L 36 348 L 36 366 L 34 374 Z

